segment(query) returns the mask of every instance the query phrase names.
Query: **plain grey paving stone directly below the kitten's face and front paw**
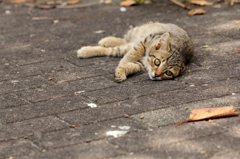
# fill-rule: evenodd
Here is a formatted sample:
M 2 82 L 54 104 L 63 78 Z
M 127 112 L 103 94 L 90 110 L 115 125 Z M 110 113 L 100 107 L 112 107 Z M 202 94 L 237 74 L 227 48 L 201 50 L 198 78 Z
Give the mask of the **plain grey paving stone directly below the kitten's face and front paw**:
M 119 86 L 106 88 L 104 91 L 96 90 L 91 92 L 84 92 L 83 95 L 89 97 L 93 102 L 106 104 L 119 100 L 121 101 L 136 98 L 139 96 L 146 96 L 154 94 L 156 92 L 164 92 L 172 89 L 182 88 L 183 86 L 180 84 L 181 83 L 177 81 L 162 81 L 161 83 L 158 83 L 147 80 L 144 81 L 144 85 L 142 82 L 134 84 L 133 87 L 129 87 L 129 84 L 119 84 Z

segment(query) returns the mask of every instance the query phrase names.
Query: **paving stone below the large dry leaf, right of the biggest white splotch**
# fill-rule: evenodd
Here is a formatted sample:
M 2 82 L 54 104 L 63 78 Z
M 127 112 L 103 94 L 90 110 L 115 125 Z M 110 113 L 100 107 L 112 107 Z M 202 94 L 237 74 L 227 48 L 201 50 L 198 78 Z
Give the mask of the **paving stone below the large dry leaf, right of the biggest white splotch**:
M 187 123 L 178 127 L 174 127 L 174 124 L 172 124 L 161 128 L 153 128 L 148 131 L 130 133 L 123 137 L 112 138 L 109 141 L 128 152 L 140 152 L 151 148 L 164 148 L 166 145 L 174 145 L 181 142 L 184 144 L 188 140 L 200 140 L 204 136 L 214 136 L 213 134 L 225 131 L 227 130 L 220 126 L 202 121 Z

